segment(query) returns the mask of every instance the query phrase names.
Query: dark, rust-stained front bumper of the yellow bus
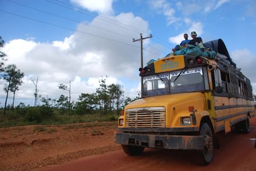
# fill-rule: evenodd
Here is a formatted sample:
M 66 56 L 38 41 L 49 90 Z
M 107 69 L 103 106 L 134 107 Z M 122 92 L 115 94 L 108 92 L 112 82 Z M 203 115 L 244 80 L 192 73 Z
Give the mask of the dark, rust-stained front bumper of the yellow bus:
M 118 144 L 143 146 L 146 148 L 202 150 L 204 136 L 190 135 L 148 135 L 138 133 L 114 133 Z

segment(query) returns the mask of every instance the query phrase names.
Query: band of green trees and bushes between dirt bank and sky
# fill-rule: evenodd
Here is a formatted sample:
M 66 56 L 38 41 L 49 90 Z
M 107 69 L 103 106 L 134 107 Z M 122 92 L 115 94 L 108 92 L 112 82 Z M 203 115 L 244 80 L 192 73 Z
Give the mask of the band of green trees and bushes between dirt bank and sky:
M 5 106 L 0 109 L 0 127 L 116 121 L 126 104 L 139 99 L 124 99 L 120 85 L 107 86 L 105 80 L 100 83 L 96 93 L 82 93 L 77 102 L 70 102 L 68 97 L 61 95 L 58 100 L 41 98 L 41 106 L 25 106 L 22 102 L 16 107 Z

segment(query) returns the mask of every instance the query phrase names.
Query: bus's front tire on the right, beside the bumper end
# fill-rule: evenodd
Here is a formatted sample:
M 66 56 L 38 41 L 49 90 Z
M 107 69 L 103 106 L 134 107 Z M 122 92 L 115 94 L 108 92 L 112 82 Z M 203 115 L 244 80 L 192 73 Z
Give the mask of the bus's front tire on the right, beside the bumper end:
M 202 164 L 208 165 L 213 159 L 213 133 L 208 123 L 203 123 L 200 129 L 200 135 L 205 136 L 205 146 L 203 150 L 200 152 L 202 158 Z

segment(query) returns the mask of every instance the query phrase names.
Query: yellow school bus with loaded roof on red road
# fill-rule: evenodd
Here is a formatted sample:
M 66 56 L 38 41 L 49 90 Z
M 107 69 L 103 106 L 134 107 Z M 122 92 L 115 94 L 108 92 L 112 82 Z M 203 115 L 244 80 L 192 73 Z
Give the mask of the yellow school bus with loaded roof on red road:
M 142 98 L 124 108 L 114 133 L 126 154 L 137 156 L 144 148 L 198 150 L 203 164 L 209 164 L 218 147 L 216 133 L 231 128 L 249 133 L 250 80 L 222 40 L 204 46 L 202 54 L 174 52 L 139 69 Z

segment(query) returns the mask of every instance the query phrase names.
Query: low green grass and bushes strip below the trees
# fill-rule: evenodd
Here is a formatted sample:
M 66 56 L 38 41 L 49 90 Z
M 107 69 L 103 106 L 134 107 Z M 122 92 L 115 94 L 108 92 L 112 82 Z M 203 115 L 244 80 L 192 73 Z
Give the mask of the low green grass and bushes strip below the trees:
M 68 109 L 67 109 L 68 110 Z M 23 125 L 60 125 L 68 123 L 84 123 L 93 122 L 93 125 L 97 125 L 97 122 L 115 121 L 118 119 L 118 115 L 109 113 L 102 114 L 83 114 L 77 115 L 75 111 L 71 114 L 64 112 L 61 113 L 61 109 L 53 109 L 51 107 L 25 107 L 22 109 L 9 109 L 4 114 L 4 109 L 0 109 L 0 127 L 15 127 Z M 79 127 L 79 125 L 72 125 L 72 127 Z M 88 127 L 88 126 L 87 126 Z M 68 129 L 68 128 L 67 128 Z M 49 131 L 38 128 L 35 131 Z

